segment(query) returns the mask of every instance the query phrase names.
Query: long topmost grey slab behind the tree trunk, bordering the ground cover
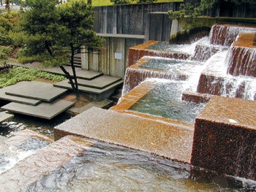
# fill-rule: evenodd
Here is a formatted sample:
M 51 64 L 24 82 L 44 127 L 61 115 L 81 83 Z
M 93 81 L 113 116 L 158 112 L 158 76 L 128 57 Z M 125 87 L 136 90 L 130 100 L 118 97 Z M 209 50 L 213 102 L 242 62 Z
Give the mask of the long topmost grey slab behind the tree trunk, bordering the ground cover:
M 10 65 L 12 65 L 12 66 L 22 66 L 22 67 L 25 67 L 25 68 L 32 68 L 32 69 L 40 69 L 43 72 L 50 72 L 50 73 L 53 73 L 53 74 L 64 75 L 64 72 L 62 72 L 62 70 L 61 70 L 61 68 L 59 68 L 59 66 L 58 67 L 45 67 L 45 66 L 42 66 L 41 64 L 39 64 L 37 62 L 32 63 L 32 64 L 11 63 Z M 70 74 L 73 74 L 71 66 L 64 66 L 64 68 L 67 70 L 67 72 L 69 72 Z M 85 69 L 81 69 L 80 67 L 76 67 L 75 72 L 76 72 L 78 78 L 84 79 L 84 80 L 92 80 L 92 79 L 102 75 L 102 72 L 92 72 L 92 71 L 88 71 L 88 70 L 85 70 Z

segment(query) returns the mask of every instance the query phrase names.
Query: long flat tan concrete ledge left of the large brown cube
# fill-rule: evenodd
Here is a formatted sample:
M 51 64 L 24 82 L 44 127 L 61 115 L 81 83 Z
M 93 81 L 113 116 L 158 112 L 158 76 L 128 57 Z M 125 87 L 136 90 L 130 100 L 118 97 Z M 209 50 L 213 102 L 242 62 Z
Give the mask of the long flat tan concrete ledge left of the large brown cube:
M 68 134 L 190 163 L 194 128 L 92 107 L 54 128 L 55 139 Z

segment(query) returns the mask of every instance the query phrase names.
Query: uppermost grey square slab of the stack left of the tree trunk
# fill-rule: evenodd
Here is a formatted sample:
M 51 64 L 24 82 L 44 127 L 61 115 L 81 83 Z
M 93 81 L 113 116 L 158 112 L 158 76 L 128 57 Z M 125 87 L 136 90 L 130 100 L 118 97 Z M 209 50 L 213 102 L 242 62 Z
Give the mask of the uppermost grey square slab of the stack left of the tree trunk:
M 66 92 L 67 89 L 53 87 L 53 84 L 48 82 L 23 81 L 12 85 L 10 90 L 5 93 L 7 95 L 50 102 Z

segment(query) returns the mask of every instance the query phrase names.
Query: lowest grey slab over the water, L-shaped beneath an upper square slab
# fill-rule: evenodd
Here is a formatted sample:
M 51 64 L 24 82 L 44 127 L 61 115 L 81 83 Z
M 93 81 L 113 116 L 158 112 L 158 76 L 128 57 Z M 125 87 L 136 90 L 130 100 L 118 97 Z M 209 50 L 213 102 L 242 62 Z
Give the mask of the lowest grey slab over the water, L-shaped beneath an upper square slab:
M 59 115 L 61 112 L 69 109 L 72 107 L 74 102 L 65 101 L 61 99 L 56 99 L 51 103 L 42 102 L 37 106 L 32 106 L 28 104 L 19 104 L 15 102 L 11 102 L 10 104 L 6 104 L 1 107 L 2 110 L 7 110 L 10 112 L 16 112 L 23 115 L 30 115 L 37 118 L 45 118 L 45 119 L 52 119 L 56 115 Z

